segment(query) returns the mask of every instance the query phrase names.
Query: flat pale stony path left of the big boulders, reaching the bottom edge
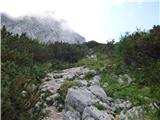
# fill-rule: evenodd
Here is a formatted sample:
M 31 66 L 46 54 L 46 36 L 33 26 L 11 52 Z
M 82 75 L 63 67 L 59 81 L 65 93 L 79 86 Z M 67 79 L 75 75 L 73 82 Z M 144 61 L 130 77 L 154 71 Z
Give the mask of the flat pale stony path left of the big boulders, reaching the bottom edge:
M 67 79 L 73 79 L 73 78 L 82 78 L 83 75 L 89 72 L 88 68 L 84 67 L 76 67 L 76 68 L 70 68 L 65 69 L 62 71 L 54 71 L 52 73 L 49 73 L 45 79 L 43 79 L 43 84 L 41 87 L 42 91 L 49 91 L 52 93 L 51 96 L 46 98 L 46 101 L 53 100 L 54 97 L 57 96 L 57 90 L 60 88 L 60 86 L 66 81 Z M 77 80 L 77 82 L 82 82 L 82 84 L 85 81 Z M 55 108 L 55 106 L 47 106 L 45 111 L 49 112 L 49 114 L 44 118 L 44 120 L 62 120 L 64 112 L 58 112 Z

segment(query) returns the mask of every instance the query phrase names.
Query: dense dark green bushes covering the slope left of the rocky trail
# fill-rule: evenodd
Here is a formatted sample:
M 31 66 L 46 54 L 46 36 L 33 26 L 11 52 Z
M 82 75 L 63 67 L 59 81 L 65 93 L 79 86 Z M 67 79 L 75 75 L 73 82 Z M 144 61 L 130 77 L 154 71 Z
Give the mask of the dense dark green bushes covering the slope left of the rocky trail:
M 85 46 L 40 43 L 24 33 L 14 35 L 1 29 L 2 119 L 38 120 L 43 117 L 39 86 L 51 70 L 71 67 L 85 56 Z

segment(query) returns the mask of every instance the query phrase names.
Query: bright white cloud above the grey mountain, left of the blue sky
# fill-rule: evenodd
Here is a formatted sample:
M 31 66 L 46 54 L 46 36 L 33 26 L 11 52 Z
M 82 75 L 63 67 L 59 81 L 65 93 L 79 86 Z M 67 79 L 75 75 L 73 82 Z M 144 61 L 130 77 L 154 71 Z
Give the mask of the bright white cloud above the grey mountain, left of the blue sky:
M 90 39 L 105 39 L 101 21 L 110 0 L 0 0 L 0 12 L 13 17 L 46 14 L 65 19 L 69 26 Z M 105 10 L 104 10 L 105 9 Z M 53 14 L 53 13 L 54 14 Z M 42 14 L 43 13 L 43 14 Z

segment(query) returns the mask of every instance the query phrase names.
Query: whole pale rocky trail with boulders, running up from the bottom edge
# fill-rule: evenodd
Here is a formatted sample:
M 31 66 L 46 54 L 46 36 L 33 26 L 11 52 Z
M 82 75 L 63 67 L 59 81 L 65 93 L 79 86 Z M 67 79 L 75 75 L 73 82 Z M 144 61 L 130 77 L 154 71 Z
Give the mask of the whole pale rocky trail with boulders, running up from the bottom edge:
M 90 80 L 85 75 L 92 73 Z M 54 98 L 59 94 L 57 90 L 67 80 L 81 84 L 68 89 L 65 98 L 65 108 L 58 112 Z M 85 67 L 75 67 L 62 71 L 49 73 L 41 86 L 42 91 L 49 91 L 51 95 L 46 98 L 52 101 L 46 105 L 47 116 L 44 120 L 129 120 L 143 117 L 141 107 L 133 107 L 129 101 L 113 99 L 107 95 L 100 86 L 101 77 L 94 70 Z M 122 110 L 119 115 L 117 111 Z M 125 110 L 125 112 L 124 112 Z

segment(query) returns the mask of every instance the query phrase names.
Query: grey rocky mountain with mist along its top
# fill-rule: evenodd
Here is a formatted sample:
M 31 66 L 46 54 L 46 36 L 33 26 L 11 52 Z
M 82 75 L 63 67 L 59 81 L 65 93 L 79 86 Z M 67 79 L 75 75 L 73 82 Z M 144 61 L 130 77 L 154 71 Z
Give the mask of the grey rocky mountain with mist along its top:
M 83 43 L 85 38 L 74 32 L 64 20 L 57 20 L 51 16 L 22 16 L 13 18 L 1 14 L 1 25 L 16 34 L 26 33 L 28 37 L 43 42 Z

